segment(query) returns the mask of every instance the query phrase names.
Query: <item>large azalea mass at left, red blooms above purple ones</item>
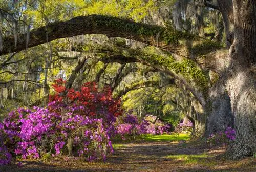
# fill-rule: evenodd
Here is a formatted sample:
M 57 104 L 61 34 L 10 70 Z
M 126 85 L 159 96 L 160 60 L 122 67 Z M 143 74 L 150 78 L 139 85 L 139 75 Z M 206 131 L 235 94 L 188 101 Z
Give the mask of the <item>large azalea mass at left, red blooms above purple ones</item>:
M 48 109 L 20 108 L 0 123 L 0 164 L 11 161 L 10 153 L 24 159 L 72 154 L 93 161 L 113 152 L 110 137 L 115 117 L 122 113 L 120 101 L 112 98 L 109 88 L 99 92 L 95 83 L 78 91 L 65 90 L 64 83 L 59 79 L 53 85 L 56 94 Z

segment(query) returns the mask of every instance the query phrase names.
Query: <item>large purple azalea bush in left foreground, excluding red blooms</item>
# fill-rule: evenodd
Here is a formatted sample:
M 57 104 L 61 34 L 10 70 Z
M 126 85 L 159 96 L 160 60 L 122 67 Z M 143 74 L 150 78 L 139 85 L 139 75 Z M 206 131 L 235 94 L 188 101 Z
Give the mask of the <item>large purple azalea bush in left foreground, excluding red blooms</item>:
M 12 111 L 0 123 L 0 165 L 11 161 L 10 152 L 24 159 L 39 158 L 44 153 L 61 154 L 68 140 L 73 140 L 72 152 L 78 156 L 88 161 L 105 160 L 106 154 L 113 152 L 111 122 L 78 115 L 71 108 L 65 113 L 39 107 Z

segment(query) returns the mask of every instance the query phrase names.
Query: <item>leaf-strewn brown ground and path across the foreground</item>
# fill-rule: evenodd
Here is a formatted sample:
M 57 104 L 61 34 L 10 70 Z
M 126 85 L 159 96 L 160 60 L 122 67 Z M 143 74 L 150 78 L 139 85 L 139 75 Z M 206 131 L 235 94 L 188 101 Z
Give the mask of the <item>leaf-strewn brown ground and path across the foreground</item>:
M 18 161 L 23 166 L 10 164 L 0 171 L 81 172 L 81 171 L 256 171 L 253 157 L 232 161 L 218 156 L 224 146 L 209 147 L 187 138 L 168 139 L 166 135 L 154 136 L 144 141 L 114 144 L 115 152 L 106 162 L 88 163 L 69 157 L 56 157 L 47 162 Z M 218 158 L 217 158 L 217 157 Z

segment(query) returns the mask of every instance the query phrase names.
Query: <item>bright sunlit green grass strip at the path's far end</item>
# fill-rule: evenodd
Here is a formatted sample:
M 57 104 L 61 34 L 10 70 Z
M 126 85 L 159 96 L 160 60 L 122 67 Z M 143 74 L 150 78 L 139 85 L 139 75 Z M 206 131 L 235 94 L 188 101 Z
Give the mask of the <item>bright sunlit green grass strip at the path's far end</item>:
M 189 134 L 179 134 L 178 135 L 142 135 L 141 139 L 144 141 L 181 141 L 188 140 L 190 138 Z

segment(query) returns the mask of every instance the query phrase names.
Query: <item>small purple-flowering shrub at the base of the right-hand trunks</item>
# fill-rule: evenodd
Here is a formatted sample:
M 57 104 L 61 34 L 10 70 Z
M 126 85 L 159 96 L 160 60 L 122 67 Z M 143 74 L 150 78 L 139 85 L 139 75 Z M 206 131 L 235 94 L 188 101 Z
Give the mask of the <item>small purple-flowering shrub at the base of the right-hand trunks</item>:
M 234 139 L 236 139 L 236 131 L 231 127 L 227 127 L 225 132 L 217 132 L 211 134 L 207 138 L 207 143 L 209 143 L 210 145 L 215 145 L 219 143 L 228 144 Z

